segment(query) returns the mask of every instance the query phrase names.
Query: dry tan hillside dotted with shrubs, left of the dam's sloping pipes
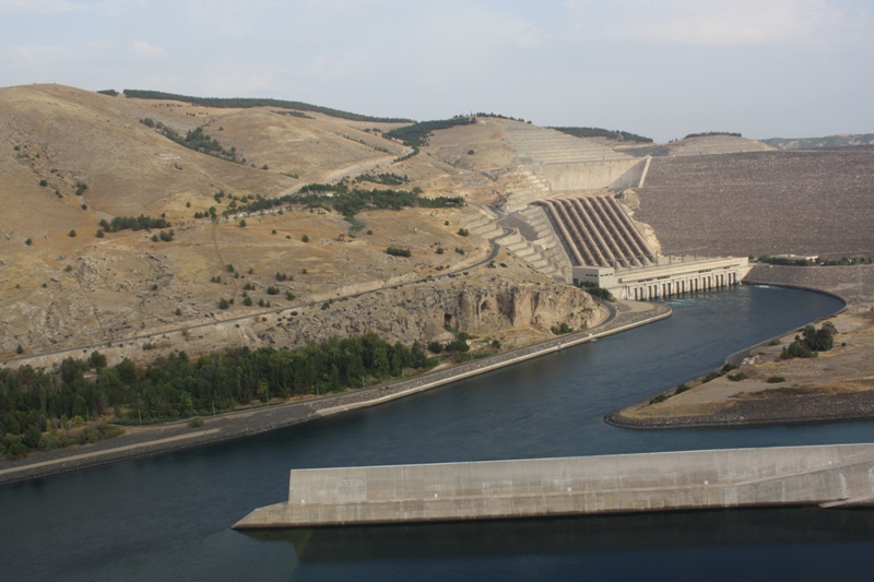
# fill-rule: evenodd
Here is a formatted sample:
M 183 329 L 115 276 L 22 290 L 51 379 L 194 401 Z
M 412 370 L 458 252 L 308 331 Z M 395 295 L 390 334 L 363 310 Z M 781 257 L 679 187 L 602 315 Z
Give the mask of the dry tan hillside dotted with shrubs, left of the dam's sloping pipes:
M 482 176 L 480 168 L 511 161 L 504 121 L 437 132 L 420 155 L 394 163 L 409 149 L 382 132 L 398 124 L 306 116 L 280 115 L 269 107 L 221 109 L 110 97 L 60 85 L 0 90 L 0 321 L 5 331 L 0 354 L 14 356 L 19 345 L 25 356 L 75 346 L 110 351 L 111 345 L 115 357 L 147 359 L 174 348 L 300 345 L 371 329 L 409 342 L 446 334 L 440 318 L 461 309 L 460 292 L 437 294 L 451 305 L 440 308 L 434 324 L 426 317 L 435 307 L 429 301 L 416 298 L 422 305 L 406 307 L 410 313 L 401 317 L 394 306 L 402 300 L 391 294 L 374 294 L 361 311 L 333 319 L 328 310 L 305 314 L 302 309 L 293 331 L 277 326 L 274 312 L 441 275 L 482 260 L 487 241 L 458 234 L 464 217 L 477 212 L 473 206 L 365 211 L 357 215 L 358 229 L 335 212 L 293 206 L 283 206 L 282 214 L 220 216 L 217 222 L 196 219 L 194 213 L 213 206 L 221 215 L 229 199 L 214 198 L 220 191 L 270 198 L 362 171 L 406 176 L 403 187 L 420 187 L 424 195 L 493 202 L 501 183 Z M 180 135 L 203 128 L 246 163 L 174 143 L 142 123 L 145 118 Z M 164 216 L 174 239 L 153 241 L 157 230 L 96 236 L 101 219 L 140 214 Z M 69 236 L 72 230 L 75 237 Z M 340 241 L 341 234 L 353 236 Z M 388 247 L 410 249 L 412 257 L 390 257 Z M 501 277 L 520 288 L 554 286 L 506 254 L 500 262 L 507 265 L 499 268 Z M 277 281 L 277 273 L 288 278 Z M 496 274 L 475 270 L 465 283 L 495 287 Z M 447 278 L 438 286 L 451 289 L 456 283 Z M 279 293 L 268 294 L 269 287 Z M 232 302 L 228 309 L 218 309 L 221 299 Z M 496 336 L 503 329 L 510 344 L 542 338 L 568 313 L 556 306 L 546 316 L 552 299 L 543 295 L 540 300 L 544 307 L 532 309 L 528 319 L 501 316 L 486 324 L 488 318 L 477 316 L 460 323 Z M 577 319 L 579 325 L 587 321 Z

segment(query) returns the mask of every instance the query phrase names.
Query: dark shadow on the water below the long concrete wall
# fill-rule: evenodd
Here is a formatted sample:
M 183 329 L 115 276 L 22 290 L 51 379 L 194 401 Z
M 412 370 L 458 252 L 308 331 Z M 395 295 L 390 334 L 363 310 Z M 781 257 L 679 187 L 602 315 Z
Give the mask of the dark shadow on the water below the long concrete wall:
M 874 542 L 874 510 L 815 508 L 244 532 L 284 542 L 300 563 L 639 553 Z M 874 558 L 873 558 L 874 559 Z

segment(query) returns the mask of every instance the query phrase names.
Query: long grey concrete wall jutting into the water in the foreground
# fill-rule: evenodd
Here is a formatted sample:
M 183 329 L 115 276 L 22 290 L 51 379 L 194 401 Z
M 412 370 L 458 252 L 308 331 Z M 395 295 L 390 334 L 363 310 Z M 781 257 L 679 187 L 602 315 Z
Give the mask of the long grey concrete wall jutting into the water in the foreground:
M 291 472 L 235 528 L 874 502 L 874 444 Z

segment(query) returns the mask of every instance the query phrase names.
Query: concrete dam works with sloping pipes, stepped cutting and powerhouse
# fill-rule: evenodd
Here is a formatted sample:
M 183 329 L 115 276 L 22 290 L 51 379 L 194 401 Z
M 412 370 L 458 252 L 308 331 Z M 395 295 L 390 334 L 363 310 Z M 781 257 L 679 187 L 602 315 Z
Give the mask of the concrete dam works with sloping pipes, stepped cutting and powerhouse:
M 749 272 L 746 257 L 711 258 L 702 248 L 662 254 L 654 230 L 634 218 L 634 189 L 645 186 L 651 156 L 544 128 L 508 122 L 505 130 L 516 157 L 504 200 L 466 218 L 465 227 L 494 238 L 532 269 L 638 301 L 731 287 Z M 698 145 L 714 150 L 696 155 L 718 153 L 720 143 L 701 140 Z

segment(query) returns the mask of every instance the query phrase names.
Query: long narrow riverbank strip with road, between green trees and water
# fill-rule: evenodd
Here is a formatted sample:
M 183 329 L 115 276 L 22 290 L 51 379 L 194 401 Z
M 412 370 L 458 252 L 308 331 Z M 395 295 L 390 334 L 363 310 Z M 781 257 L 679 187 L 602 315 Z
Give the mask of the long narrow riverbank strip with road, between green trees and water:
M 197 429 L 191 428 L 188 421 L 146 428 L 128 428 L 125 435 L 95 444 L 36 453 L 20 461 L 3 460 L 0 461 L 0 486 L 131 459 L 216 444 L 316 420 L 354 408 L 378 405 L 671 316 L 671 308 L 663 304 L 619 301 L 617 308 L 611 309 L 611 317 L 592 330 L 556 336 L 547 342 L 508 351 L 409 380 L 208 417 L 204 418 L 203 427 Z

